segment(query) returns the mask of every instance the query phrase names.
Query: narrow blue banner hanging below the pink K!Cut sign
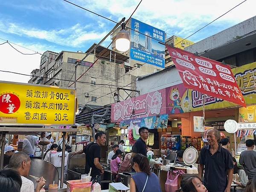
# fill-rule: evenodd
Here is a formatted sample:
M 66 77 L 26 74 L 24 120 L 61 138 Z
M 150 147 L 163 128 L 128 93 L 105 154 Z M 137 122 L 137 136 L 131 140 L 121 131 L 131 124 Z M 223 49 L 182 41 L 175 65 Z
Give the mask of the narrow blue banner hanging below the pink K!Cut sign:
M 148 116 L 137 119 L 128 119 L 120 122 L 120 127 L 127 126 L 129 129 L 147 127 L 149 129 L 167 128 L 168 114 Z

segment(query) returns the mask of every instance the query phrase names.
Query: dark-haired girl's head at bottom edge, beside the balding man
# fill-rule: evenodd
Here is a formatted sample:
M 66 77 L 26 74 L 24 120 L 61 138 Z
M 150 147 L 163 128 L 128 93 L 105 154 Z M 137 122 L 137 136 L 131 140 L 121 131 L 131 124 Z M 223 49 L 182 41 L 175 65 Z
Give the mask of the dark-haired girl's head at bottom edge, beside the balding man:
M 180 192 L 208 192 L 198 176 L 185 177 L 180 183 Z

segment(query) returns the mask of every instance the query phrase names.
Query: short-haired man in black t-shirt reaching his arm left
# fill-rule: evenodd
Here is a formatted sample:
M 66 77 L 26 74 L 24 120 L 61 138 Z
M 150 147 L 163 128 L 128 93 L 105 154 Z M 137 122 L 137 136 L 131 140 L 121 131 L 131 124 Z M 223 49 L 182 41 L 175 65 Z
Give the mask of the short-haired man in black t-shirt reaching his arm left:
M 104 170 L 99 163 L 100 160 L 100 146 L 105 145 L 106 143 L 106 133 L 103 131 L 99 131 L 95 134 L 95 142 L 89 143 L 84 147 L 83 150 L 77 151 L 75 154 L 85 153 L 85 173 L 88 174 L 90 172 L 90 168 L 92 168 L 90 176 L 91 181 L 100 183 L 100 175 L 104 173 Z

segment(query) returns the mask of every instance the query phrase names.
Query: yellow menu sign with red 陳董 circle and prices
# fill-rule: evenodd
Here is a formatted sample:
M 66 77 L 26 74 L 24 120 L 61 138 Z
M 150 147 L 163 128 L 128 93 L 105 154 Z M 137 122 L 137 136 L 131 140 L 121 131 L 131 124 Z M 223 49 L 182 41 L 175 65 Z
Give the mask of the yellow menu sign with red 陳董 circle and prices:
M 76 89 L 0 81 L 0 125 L 69 125 Z

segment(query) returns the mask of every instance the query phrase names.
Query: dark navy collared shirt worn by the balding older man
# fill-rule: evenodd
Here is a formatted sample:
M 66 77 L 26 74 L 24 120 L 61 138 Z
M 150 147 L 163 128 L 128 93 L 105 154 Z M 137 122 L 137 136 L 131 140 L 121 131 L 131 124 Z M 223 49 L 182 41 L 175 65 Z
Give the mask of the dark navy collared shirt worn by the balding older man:
M 219 145 L 218 151 L 211 154 L 210 145 L 201 149 L 199 163 L 204 165 L 204 185 L 208 192 L 224 192 L 227 187 L 227 171 L 233 169 L 230 152 Z

